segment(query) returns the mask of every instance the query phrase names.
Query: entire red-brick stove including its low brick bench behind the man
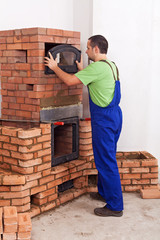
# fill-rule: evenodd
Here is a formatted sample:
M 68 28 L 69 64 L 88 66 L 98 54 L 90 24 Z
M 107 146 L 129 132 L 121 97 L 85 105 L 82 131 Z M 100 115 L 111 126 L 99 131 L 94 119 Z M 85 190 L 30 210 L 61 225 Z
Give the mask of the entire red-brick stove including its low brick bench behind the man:
M 0 207 L 16 206 L 33 217 L 97 190 L 91 124 L 80 120 L 82 86 L 67 87 L 56 75 L 44 73 L 46 49 L 63 43 L 80 48 L 80 33 L 9 30 L 0 32 L 0 42 Z M 52 166 L 51 120 L 75 116 L 79 157 Z M 118 152 L 117 160 L 123 191 L 157 188 L 158 161 L 151 154 Z

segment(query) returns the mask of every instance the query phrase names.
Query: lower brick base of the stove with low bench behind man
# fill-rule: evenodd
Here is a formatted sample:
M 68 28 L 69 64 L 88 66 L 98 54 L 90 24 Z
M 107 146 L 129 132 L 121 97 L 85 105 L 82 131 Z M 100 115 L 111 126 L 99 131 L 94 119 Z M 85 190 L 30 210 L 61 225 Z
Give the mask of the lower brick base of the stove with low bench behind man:
M 157 188 L 158 160 L 148 152 L 117 152 L 122 190 Z M 84 193 L 96 191 L 90 121 L 80 121 L 79 158 L 51 168 L 51 125 L 0 127 L 0 206 L 16 206 L 31 217 Z M 73 188 L 58 186 L 73 180 Z

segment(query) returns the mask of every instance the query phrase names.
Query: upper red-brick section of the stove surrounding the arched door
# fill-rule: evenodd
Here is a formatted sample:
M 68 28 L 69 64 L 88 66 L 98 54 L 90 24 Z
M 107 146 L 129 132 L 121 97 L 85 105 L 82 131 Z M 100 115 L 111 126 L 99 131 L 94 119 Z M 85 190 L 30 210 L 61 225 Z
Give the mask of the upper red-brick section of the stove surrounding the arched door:
M 2 119 L 40 119 L 40 110 L 82 101 L 82 84 L 67 87 L 44 73 L 44 56 L 58 44 L 80 48 L 80 33 L 49 28 L 0 31 Z M 19 123 L 20 124 L 20 123 Z

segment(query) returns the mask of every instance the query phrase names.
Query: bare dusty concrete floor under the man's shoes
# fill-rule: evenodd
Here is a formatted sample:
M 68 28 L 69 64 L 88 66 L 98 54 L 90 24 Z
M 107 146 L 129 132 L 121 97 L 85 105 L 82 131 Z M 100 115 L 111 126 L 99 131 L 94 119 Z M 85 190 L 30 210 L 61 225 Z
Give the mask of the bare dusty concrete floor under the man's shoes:
M 59 208 L 32 218 L 32 240 L 159 240 L 160 199 L 141 199 L 124 193 L 124 215 L 98 217 L 103 202 L 83 195 Z

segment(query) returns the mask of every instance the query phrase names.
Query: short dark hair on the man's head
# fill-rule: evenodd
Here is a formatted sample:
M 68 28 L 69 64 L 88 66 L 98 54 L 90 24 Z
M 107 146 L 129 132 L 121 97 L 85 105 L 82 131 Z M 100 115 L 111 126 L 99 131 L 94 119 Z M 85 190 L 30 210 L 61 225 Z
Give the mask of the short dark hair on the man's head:
M 92 48 L 97 46 L 100 50 L 100 53 L 107 54 L 108 51 L 108 41 L 105 37 L 102 35 L 94 35 L 90 37 L 88 40 L 90 40 L 90 45 Z

